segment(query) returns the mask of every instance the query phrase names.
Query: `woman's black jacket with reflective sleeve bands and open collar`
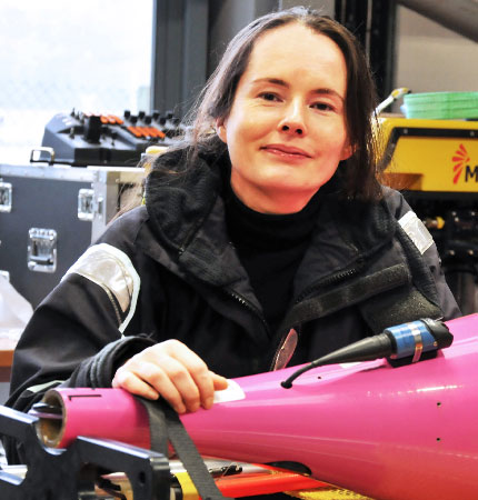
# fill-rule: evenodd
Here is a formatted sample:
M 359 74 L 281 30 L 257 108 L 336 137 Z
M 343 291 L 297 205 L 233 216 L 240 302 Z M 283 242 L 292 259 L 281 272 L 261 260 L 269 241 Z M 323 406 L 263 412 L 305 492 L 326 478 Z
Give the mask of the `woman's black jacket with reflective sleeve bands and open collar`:
M 180 156 L 161 161 L 178 170 Z M 120 363 L 170 338 L 230 378 L 269 370 L 292 327 L 289 366 L 391 324 L 459 314 L 435 244 L 421 254 L 398 222 L 410 210 L 398 192 L 375 204 L 325 190 L 293 301 L 270 331 L 228 239 L 218 168 L 200 158 L 181 174 L 152 171 L 146 207 L 111 223 L 36 310 L 9 406 L 27 411 L 58 384 L 110 387 Z

